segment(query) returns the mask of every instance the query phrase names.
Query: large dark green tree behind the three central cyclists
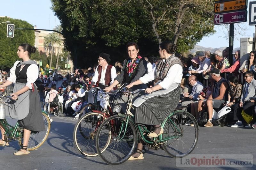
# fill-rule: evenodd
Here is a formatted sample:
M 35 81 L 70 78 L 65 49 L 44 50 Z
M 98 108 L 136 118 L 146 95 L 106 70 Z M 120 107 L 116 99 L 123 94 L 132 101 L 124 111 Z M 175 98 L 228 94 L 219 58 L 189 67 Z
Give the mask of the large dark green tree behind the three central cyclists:
M 179 52 L 193 48 L 213 33 L 212 2 L 52 0 L 52 9 L 75 66 L 85 67 L 96 63 L 100 52 L 109 53 L 112 61 L 124 60 L 125 44 L 131 41 L 138 42 L 142 56 L 156 56 L 162 40 L 177 43 Z

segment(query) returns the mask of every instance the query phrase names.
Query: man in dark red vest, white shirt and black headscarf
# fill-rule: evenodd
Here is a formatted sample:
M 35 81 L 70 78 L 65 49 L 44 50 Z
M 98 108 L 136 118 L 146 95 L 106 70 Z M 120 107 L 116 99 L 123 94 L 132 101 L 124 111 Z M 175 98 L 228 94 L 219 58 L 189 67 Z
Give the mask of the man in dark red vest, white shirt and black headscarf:
M 99 65 L 95 69 L 91 86 L 96 85 L 100 88 L 105 88 L 114 82 L 116 78 L 116 68 L 108 64 L 110 61 L 109 54 L 100 53 L 98 58 Z

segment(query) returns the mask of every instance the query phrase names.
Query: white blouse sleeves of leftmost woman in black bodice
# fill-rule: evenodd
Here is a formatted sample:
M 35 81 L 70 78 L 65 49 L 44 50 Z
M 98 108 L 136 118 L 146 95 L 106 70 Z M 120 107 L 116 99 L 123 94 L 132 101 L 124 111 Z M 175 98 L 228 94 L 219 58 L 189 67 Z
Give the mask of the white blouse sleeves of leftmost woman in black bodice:
M 11 81 L 12 83 L 16 83 L 15 70 L 16 70 L 16 66 L 17 66 L 18 63 L 20 63 L 20 61 L 16 61 L 13 64 L 13 67 L 10 70 L 10 77 L 7 78 L 7 80 Z M 39 73 L 39 69 L 38 69 L 38 66 L 36 64 L 31 64 L 30 66 L 28 66 L 28 70 L 27 70 L 27 77 L 28 78 L 27 78 L 26 86 L 28 86 L 30 89 L 32 89 L 32 84 L 38 78 L 38 73 Z

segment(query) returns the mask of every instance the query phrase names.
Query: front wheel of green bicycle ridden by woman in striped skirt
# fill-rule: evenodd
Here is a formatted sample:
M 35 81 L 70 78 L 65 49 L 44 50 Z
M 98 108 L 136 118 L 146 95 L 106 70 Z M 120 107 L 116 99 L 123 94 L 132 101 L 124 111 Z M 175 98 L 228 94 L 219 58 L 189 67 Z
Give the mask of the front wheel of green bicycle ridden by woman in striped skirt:
M 138 142 L 137 130 L 133 122 L 131 120 L 128 124 L 126 122 L 127 118 L 114 115 L 102 122 L 98 129 L 97 152 L 100 158 L 109 165 L 118 165 L 129 159 Z M 125 132 L 126 125 L 128 130 Z

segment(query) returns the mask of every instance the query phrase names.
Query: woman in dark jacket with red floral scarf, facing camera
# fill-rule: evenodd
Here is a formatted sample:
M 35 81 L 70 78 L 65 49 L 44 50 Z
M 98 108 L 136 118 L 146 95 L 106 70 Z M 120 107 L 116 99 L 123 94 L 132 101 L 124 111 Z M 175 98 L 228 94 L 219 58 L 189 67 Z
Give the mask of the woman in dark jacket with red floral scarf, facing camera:
M 130 42 L 126 45 L 128 59 L 124 60 L 121 73 L 116 76 L 115 81 L 105 90 L 109 92 L 119 83 L 132 83 L 148 72 L 147 62 L 139 54 L 139 46 L 135 42 Z M 146 85 L 133 86 L 132 90 L 139 88 L 147 88 Z

